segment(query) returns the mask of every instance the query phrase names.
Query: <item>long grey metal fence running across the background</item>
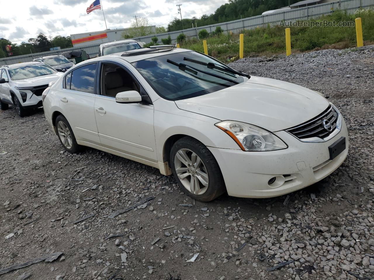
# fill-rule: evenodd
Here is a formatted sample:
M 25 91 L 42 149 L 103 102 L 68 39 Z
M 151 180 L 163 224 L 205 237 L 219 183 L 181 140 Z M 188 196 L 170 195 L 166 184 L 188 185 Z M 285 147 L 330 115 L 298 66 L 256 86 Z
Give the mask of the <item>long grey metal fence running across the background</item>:
M 157 34 L 157 38 L 161 42 L 161 39 L 168 38 L 170 35 L 172 42 L 175 43 L 179 34 L 184 33 L 187 38 L 198 38 L 199 32 L 202 29 L 206 29 L 209 33 L 213 32 L 215 28 L 218 26 L 226 32 L 240 32 L 243 29 L 253 29 L 256 27 L 266 26 L 267 24 L 276 25 L 279 24 L 282 20 L 284 21 L 295 21 L 295 20 L 308 20 L 312 18 L 319 17 L 321 15 L 328 15 L 332 13 L 334 10 L 341 9 L 346 10 L 347 13 L 354 13 L 360 7 L 362 8 L 370 8 L 374 7 L 374 0 L 341 0 L 341 1 L 334 1 L 319 5 L 307 6 L 298 9 L 291 9 L 286 10 L 284 12 L 279 13 L 271 13 L 267 15 L 261 16 L 252 16 L 251 18 L 243 18 L 237 19 L 235 21 L 228 21 L 222 22 L 219 24 L 212 24 L 206 25 L 197 28 L 188 28 L 184 30 L 174 31 L 174 32 L 166 32 Z M 150 43 L 151 38 L 154 35 L 143 36 L 138 38 L 133 38 L 137 41 L 142 41 L 145 43 Z M 63 49 L 60 51 L 50 51 L 50 52 L 42 52 L 42 53 L 34 53 L 30 55 L 20 55 L 15 57 L 7 57 L 7 58 L 0 58 L 0 65 L 4 64 L 13 64 L 19 62 L 29 62 L 32 61 L 35 57 L 43 56 L 43 55 L 53 55 L 57 53 L 61 53 L 62 51 L 66 50 L 85 50 L 89 56 L 95 56 L 99 52 L 99 44 L 85 46 L 85 47 L 73 47 L 68 49 Z

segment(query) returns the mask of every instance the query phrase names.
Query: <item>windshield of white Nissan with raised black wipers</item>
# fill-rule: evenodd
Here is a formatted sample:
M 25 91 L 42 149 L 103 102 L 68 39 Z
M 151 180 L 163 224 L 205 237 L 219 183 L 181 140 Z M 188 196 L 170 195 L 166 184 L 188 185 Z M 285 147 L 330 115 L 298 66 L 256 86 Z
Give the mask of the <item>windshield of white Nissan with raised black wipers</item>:
M 209 67 L 212 64 L 217 67 Z M 157 56 L 132 65 L 159 96 L 168 100 L 187 99 L 231 87 L 237 84 L 235 79 L 239 76 L 226 71 L 223 63 L 197 52 Z

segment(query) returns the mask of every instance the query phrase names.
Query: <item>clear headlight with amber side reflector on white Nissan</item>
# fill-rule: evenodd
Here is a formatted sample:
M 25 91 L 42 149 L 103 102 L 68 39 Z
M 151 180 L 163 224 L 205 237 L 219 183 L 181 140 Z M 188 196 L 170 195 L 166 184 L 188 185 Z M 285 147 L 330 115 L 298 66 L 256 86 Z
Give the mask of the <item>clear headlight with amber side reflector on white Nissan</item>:
M 252 124 L 223 121 L 215 126 L 226 132 L 243 151 L 270 151 L 287 148 L 287 145 L 273 133 Z

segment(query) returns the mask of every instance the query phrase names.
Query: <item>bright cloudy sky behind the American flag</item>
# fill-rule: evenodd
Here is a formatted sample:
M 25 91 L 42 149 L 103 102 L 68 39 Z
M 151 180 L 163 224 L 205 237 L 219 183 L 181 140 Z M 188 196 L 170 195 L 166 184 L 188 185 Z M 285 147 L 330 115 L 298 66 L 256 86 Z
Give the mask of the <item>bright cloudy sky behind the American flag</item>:
M 94 0 L 13 0 L 1 5 L 0 38 L 21 43 L 35 38 L 40 32 L 47 37 L 69 36 L 105 30 L 102 10 L 87 14 Z M 176 4 L 182 4 L 183 18 L 213 13 L 227 0 L 101 0 L 109 29 L 126 28 L 134 16 L 147 18 L 151 25 L 167 27 L 179 17 Z

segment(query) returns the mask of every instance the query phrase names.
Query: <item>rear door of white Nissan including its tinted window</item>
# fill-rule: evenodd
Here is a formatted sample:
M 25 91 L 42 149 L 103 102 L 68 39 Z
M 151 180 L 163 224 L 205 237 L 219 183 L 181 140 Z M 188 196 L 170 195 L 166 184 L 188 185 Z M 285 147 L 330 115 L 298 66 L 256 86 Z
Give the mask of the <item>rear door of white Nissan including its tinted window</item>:
M 99 145 L 94 113 L 97 68 L 97 62 L 88 63 L 65 75 L 59 103 L 76 139 Z

